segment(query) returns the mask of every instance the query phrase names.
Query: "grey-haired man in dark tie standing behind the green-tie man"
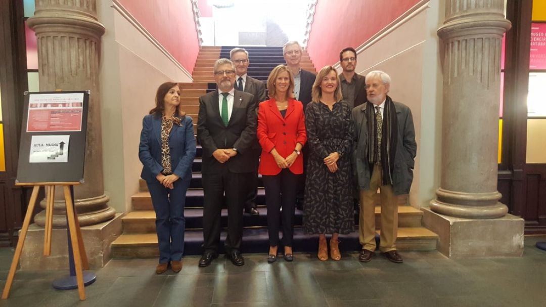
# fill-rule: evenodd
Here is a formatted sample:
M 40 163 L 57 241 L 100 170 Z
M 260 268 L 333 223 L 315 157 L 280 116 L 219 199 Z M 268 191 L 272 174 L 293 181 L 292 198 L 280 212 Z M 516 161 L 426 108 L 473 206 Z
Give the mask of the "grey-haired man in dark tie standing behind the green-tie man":
M 248 65 L 250 64 L 248 51 L 243 48 L 234 48 L 229 52 L 229 57 L 235 64 L 235 88 L 238 91 L 254 95 L 254 103 L 256 103 L 256 108 L 258 108 L 260 102 L 267 100 L 267 97 L 265 96 L 265 84 L 247 74 Z M 258 140 L 255 140 L 251 146 L 251 157 L 249 160 L 249 163 L 253 163 L 254 170 L 245 199 L 245 212 L 252 216 L 260 215 L 260 212 L 256 208 L 256 197 L 258 196 L 258 165 L 260 163 L 261 153 L 262 147 L 260 147 Z

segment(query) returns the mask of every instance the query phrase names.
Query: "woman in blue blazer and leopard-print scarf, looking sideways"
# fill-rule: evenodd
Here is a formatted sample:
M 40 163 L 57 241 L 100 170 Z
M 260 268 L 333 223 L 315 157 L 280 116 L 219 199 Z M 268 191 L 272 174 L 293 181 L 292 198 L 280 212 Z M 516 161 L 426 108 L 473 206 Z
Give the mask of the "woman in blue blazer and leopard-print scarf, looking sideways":
M 157 274 L 182 269 L 184 251 L 184 205 L 195 157 L 193 121 L 180 111 L 180 88 L 165 82 L 157 89 L 156 107 L 144 116 L 140 133 L 139 158 L 146 180 L 159 243 Z

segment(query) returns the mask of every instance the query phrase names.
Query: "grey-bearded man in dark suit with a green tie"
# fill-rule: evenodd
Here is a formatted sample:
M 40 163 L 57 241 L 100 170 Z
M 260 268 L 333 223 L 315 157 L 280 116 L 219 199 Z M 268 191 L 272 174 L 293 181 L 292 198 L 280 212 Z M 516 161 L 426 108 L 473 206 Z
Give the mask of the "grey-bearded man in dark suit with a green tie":
M 243 206 L 252 179 L 248 163 L 256 141 L 254 96 L 234 88 L 235 66 L 227 58 L 214 64 L 217 91 L 199 98 L 197 138 L 203 147 L 203 256 L 199 267 L 207 267 L 218 256 L 222 204 L 228 207 L 226 256 L 234 265 L 244 265 L 241 255 Z

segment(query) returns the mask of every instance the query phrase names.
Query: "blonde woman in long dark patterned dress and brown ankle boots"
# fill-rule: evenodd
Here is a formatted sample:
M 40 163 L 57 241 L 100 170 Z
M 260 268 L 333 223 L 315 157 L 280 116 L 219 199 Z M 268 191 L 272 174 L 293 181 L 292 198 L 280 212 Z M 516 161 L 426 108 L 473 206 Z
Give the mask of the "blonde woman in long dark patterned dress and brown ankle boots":
M 310 156 L 305 181 L 304 229 L 319 235 L 318 258 L 341 259 L 339 234 L 354 231 L 351 181 L 351 108 L 342 101 L 336 70 L 325 66 L 317 74 L 312 101 L 305 111 Z

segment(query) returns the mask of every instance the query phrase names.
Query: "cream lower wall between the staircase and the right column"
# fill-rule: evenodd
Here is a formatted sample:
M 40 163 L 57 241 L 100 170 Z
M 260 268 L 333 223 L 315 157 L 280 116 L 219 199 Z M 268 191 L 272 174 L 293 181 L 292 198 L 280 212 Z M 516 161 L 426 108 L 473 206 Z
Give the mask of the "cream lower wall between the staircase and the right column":
M 443 79 L 436 30 L 443 22 L 443 5 L 424 2 L 355 48 L 357 73 L 388 73 L 389 96 L 412 110 L 418 147 L 410 204 L 416 207 L 428 206 L 440 184 Z

